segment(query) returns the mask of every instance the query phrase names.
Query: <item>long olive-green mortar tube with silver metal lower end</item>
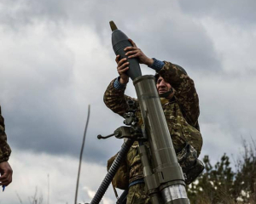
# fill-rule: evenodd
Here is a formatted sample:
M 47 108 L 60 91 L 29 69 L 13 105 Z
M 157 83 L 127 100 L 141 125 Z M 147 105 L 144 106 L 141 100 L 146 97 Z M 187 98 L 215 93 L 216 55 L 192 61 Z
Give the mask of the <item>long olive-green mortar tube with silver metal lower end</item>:
M 166 123 L 154 76 L 137 77 L 133 84 L 142 111 L 152 155 L 154 183 L 165 204 L 189 204 L 182 168 L 177 162 L 171 135 Z M 152 178 L 147 181 L 152 183 Z M 154 191 L 154 190 L 153 190 Z

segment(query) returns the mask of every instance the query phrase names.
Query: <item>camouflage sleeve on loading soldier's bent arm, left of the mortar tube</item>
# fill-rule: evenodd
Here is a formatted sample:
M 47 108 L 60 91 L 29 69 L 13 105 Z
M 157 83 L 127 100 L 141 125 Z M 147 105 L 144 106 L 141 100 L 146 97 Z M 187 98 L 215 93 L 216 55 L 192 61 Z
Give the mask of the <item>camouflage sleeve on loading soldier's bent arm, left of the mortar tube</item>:
M 125 111 L 128 109 L 127 101 L 133 100 L 137 103 L 137 99 L 133 99 L 130 96 L 125 95 L 125 88 L 114 88 L 114 81 L 115 79 L 113 79 L 113 81 L 108 85 L 103 100 L 109 109 L 119 114 L 119 116 L 124 116 Z

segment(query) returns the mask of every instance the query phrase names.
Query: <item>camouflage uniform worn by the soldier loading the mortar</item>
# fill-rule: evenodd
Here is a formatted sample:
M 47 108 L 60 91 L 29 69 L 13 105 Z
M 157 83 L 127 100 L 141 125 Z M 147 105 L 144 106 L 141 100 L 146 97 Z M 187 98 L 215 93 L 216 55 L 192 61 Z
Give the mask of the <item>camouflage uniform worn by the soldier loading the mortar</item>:
M 198 153 L 197 156 L 199 156 L 202 138 L 198 124 L 200 111 L 195 84 L 183 70 L 178 68 L 178 65 L 173 65 L 170 62 L 165 61 L 165 65 L 158 71 L 158 74 L 175 89 L 175 94 L 172 99 L 161 99 L 166 122 L 172 135 L 174 149 L 176 152 L 183 150 L 187 142 L 195 148 Z M 128 108 L 126 101 L 132 98 L 124 94 L 125 88 L 114 88 L 114 80 L 110 82 L 104 94 L 104 102 L 113 112 L 123 116 Z M 139 109 L 137 99 L 132 100 L 137 103 Z M 140 112 L 138 112 L 138 117 L 141 117 Z M 129 178 L 123 179 L 124 181 L 129 180 L 129 182 L 122 184 L 121 188 L 119 185 L 115 185 L 117 188 L 128 189 L 128 185 L 131 184 L 131 182 L 143 178 L 143 167 L 138 155 L 137 146 L 137 142 L 132 145 L 123 164 L 123 166 L 126 165 L 126 167 L 121 167 L 120 169 L 122 169 L 122 171 L 119 171 L 113 179 L 113 185 L 115 185 L 120 182 L 119 178 L 124 178 L 124 175 L 129 175 Z M 126 173 L 124 169 L 127 171 Z M 144 197 L 145 194 L 142 191 L 143 185 L 144 184 L 136 184 L 130 187 L 127 203 L 148 203 L 148 198 L 146 199 L 146 197 Z M 124 186 L 126 187 L 124 188 Z

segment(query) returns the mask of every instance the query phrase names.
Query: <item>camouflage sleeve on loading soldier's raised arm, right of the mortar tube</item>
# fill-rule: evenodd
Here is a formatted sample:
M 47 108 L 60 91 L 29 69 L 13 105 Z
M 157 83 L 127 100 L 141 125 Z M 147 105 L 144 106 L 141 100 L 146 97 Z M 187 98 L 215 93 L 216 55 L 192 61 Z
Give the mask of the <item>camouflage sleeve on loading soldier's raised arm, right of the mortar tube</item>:
M 199 130 L 199 99 L 194 81 L 183 71 L 183 68 L 179 69 L 178 65 L 166 61 L 158 73 L 175 89 L 175 98 L 186 121 Z

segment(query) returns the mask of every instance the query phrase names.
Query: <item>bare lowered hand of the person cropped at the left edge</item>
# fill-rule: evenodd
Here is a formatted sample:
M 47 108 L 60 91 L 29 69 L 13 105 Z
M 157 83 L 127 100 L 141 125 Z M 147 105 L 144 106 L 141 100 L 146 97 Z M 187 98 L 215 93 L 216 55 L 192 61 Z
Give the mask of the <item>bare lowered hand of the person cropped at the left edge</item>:
M 0 185 L 8 186 L 12 182 L 13 170 L 9 166 L 8 161 L 3 161 L 0 163 Z

